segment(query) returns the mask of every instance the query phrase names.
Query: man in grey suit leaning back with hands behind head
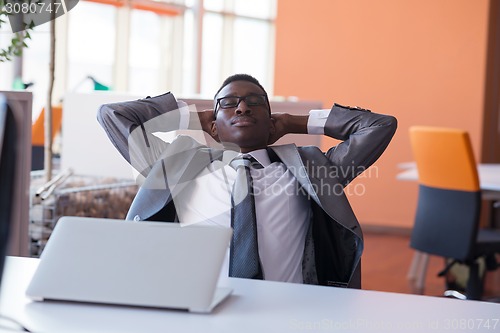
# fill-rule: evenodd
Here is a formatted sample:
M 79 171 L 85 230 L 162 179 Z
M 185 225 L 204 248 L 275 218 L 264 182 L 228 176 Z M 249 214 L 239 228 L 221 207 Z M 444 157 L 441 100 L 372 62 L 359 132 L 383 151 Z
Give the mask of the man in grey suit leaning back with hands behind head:
M 231 225 L 241 237 L 236 223 L 246 217 L 237 217 L 236 207 L 246 199 L 235 202 L 233 187 L 245 176 L 232 163 L 245 155 L 253 161 L 245 169 L 254 209 L 247 215 L 256 221 L 244 225 L 256 225 L 256 239 L 242 236 L 252 245 L 241 257 L 233 238 L 229 275 L 361 287 L 363 237 L 342 189 L 383 153 L 396 130 L 394 117 L 337 104 L 307 116 L 273 114 L 260 83 L 237 74 L 224 81 L 213 110 L 190 112 L 169 93 L 104 105 L 98 120 L 144 176 L 128 219 Z M 177 129 L 201 129 L 216 145 L 186 136 L 166 143 L 153 134 Z M 288 133 L 342 142 L 326 153 L 313 146 L 270 146 Z M 254 255 L 251 246 L 258 248 L 255 275 L 232 273 L 237 265 L 253 266 L 245 261 Z

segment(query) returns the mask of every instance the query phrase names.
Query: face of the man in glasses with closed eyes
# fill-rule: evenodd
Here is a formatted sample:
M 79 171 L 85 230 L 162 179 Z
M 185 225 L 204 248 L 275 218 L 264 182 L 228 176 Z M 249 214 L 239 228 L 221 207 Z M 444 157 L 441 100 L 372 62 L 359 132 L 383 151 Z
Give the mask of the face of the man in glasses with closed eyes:
M 239 102 L 237 106 L 227 107 L 227 100 L 220 101 L 215 110 L 216 119 L 212 122 L 212 135 L 218 136 L 219 141 L 226 146 L 237 145 L 243 153 L 267 147 L 275 127 L 269 115 L 267 100 L 264 104 L 259 102 L 259 96 L 264 98 L 261 96 L 263 94 L 265 92 L 259 86 L 248 81 L 233 81 L 226 85 L 216 99 L 249 97 L 244 100 L 233 99 L 232 102 Z

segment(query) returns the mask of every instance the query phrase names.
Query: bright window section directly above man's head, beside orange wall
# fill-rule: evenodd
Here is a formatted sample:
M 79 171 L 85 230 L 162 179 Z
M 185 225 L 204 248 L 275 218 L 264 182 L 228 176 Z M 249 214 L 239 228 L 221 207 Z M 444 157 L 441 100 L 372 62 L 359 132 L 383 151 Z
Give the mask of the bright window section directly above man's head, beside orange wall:
M 212 97 L 234 73 L 255 76 L 270 94 L 274 72 L 273 0 L 205 0 L 201 91 Z

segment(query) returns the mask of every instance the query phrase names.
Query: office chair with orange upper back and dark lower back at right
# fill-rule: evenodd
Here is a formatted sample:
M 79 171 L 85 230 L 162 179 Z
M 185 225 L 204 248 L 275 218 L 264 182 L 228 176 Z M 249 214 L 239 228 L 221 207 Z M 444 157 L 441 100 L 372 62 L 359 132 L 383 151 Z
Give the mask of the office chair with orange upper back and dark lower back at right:
M 410 128 L 410 141 L 419 181 L 410 246 L 423 253 L 417 252 L 414 260 L 424 260 L 417 282 L 425 279 L 427 254 L 441 256 L 449 263 L 439 275 L 445 276 L 457 263 L 466 265 L 469 277 L 463 298 L 481 299 L 484 274 L 478 259 L 484 258 L 489 270 L 498 267 L 500 230 L 479 225 L 481 189 L 469 135 L 458 129 L 415 126 Z

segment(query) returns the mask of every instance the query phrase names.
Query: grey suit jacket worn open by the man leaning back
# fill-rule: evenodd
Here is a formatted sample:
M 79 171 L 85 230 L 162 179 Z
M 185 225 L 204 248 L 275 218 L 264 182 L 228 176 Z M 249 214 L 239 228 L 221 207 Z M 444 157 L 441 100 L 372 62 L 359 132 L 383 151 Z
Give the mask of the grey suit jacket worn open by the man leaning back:
M 152 133 L 176 130 L 180 113 L 171 93 L 106 104 L 98 121 L 120 153 L 140 171 L 143 184 L 128 219 L 176 221 L 172 193 L 223 153 L 188 136 L 171 143 Z M 318 147 L 271 146 L 311 198 L 312 221 L 303 256 L 304 283 L 361 287 L 363 236 L 343 188 L 383 153 L 397 127 L 392 116 L 334 105 L 325 135 L 342 142 Z M 177 188 L 176 188 L 177 187 Z

